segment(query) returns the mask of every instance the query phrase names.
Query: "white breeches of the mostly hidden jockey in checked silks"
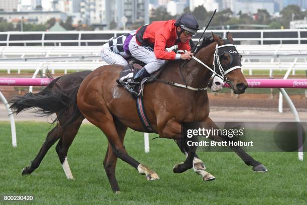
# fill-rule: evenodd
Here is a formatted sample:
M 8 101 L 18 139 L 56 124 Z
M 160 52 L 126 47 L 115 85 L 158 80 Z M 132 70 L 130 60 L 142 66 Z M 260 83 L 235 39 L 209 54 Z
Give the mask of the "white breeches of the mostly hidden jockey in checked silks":
M 115 53 L 110 50 L 109 43 L 103 44 L 101 50 L 100 50 L 100 56 L 102 60 L 104 60 L 108 64 L 118 64 L 118 65 L 127 65 L 127 61 L 125 58 L 129 57 L 128 54 L 124 52 Z

